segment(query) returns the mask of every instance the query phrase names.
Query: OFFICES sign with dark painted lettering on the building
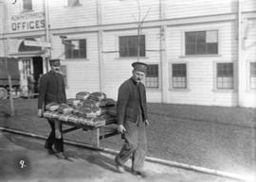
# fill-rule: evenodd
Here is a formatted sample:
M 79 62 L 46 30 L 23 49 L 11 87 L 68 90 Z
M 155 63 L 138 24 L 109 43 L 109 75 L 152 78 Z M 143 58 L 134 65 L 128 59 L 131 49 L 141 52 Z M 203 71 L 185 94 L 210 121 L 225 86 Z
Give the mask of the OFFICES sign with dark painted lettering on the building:
M 35 12 L 10 17 L 12 31 L 39 30 L 46 27 L 45 13 Z

